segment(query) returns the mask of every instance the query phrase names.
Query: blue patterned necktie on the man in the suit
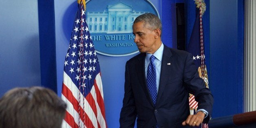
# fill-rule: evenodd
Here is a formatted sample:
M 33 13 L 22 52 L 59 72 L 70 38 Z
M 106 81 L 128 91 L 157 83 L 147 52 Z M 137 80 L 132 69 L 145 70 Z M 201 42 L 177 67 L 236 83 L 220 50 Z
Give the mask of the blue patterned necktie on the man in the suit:
M 156 78 L 156 67 L 154 65 L 154 59 L 155 59 L 154 55 L 151 55 L 146 79 L 148 84 L 148 90 L 155 106 L 157 102 L 157 78 Z

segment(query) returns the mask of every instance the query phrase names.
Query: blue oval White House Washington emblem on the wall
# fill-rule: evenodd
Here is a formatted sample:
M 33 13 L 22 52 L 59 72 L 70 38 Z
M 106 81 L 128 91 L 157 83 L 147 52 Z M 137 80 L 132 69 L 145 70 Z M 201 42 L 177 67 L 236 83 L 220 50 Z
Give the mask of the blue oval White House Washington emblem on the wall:
M 138 53 L 132 24 L 143 13 L 159 16 L 148 0 L 88 0 L 86 22 L 96 52 L 107 56 Z

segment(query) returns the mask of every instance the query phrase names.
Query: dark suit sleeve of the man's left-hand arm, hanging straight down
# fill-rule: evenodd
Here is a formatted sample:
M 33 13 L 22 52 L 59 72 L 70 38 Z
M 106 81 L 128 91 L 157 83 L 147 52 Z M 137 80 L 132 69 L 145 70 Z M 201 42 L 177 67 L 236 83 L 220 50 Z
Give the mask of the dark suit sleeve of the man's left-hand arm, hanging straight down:
M 125 70 L 123 107 L 121 109 L 120 119 L 119 119 L 120 128 L 134 128 L 135 119 L 137 117 L 136 108 L 135 108 L 135 98 L 134 98 L 132 87 L 131 87 L 130 73 L 129 73 L 129 68 L 127 63 L 126 63 L 126 70 Z

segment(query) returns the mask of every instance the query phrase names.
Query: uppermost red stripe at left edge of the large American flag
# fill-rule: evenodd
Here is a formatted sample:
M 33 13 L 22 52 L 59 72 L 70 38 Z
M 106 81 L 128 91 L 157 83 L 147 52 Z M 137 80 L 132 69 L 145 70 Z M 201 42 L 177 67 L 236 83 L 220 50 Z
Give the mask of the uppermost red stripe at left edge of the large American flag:
M 77 102 L 77 99 L 75 99 L 75 97 L 73 97 L 73 95 L 70 95 L 70 94 L 72 94 L 71 90 L 69 90 L 69 88 L 67 88 L 66 85 L 63 83 L 62 95 L 66 97 L 66 99 L 68 99 L 68 101 L 71 102 L 71 104 L 73 104 L 74 110 L 77 111 L 77 113 L 79 113 L 79 109 L 78 109 L 79 103 Z M 94 128 L 92 121 L 90 120 L 88 115 L 84 112 L 83 108 L 81 106 L 79 106 L 79 108 L 80 108 L 79 118 L 84 122 L 86 127 Z M 81 118 L 81 117 L 84 117 L 84 118 Z

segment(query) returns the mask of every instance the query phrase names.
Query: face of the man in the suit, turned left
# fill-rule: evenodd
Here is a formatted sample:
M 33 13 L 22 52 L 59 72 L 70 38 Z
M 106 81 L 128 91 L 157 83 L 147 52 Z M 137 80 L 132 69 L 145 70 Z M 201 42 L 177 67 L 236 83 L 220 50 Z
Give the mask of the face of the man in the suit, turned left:
M 141 53 L 151 53 L 153 54 L 157 49 L 155 31 L 147 29 L 144 25 L 144 22 L 137 22 L 133 24 L 133 34 L 135 35 L 134 42 L 136 43 L 139 52 Z

